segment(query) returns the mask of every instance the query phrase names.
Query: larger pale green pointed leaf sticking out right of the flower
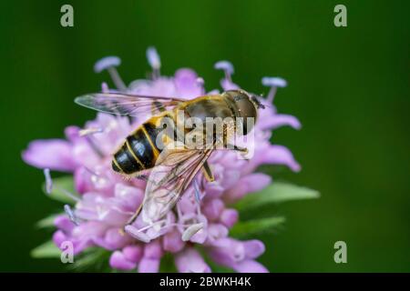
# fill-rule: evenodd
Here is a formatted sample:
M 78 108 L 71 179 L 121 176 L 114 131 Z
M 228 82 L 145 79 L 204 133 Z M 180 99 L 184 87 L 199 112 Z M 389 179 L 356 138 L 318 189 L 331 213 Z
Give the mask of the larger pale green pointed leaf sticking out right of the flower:
M 313 199 L 319 197 L 319 192 L 303 186 L 295 186 L 284 182 L 273 182 L 260 192 L 243 197 L 235 208 L 243 211 L 272 203 L 291 200 Z

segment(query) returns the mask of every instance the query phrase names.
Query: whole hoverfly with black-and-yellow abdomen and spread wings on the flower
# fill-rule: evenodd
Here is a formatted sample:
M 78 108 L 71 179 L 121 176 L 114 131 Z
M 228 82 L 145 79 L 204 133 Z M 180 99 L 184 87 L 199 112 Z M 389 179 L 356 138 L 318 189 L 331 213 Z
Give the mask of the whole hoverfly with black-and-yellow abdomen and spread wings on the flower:
M 211 145 L 201 148 L 189 148 L 174 136 L 165 136 L 164 148 L 156 144 L 159 132 L 163 130 L 159 123 L 164 118 L 175 120 L 177 112 L 200 118 L 231 117 L 232 119 L 254 118 L 258 108 L 263 108 L 256 96 L 243 90 L 226 91 L 220 95 L 203 95 L 192 100 L 173 97 L 147 95 L 128 95 L 123 93 L 97 93 L 76 98 L 78 105 L 114 115 L 145 115 L 154 113 L 145 123 L 134 130 L 112 158 L 112 169 L 125 176 L 141 176 L 150 170 L 144 201 L 135 215 L 128 221 L 131 224 L 142 207 L 142 219 L 148 224 L 165 216 L 187 190 L 194 177 L 202 169 L 205 178 L 213 181 L 207 159 L 214 150 L 215 140 Z M 251 132 L 246 122 L 242 123 L 242 135 Z M 215 136 L 213 136 L 215 137 Z M 175 147 L 176 142 L 182 146 Z M 174 145 L 174 146 L 169 146 Z M 246 152 L 246 148 L 232 146 L 234 150 Z

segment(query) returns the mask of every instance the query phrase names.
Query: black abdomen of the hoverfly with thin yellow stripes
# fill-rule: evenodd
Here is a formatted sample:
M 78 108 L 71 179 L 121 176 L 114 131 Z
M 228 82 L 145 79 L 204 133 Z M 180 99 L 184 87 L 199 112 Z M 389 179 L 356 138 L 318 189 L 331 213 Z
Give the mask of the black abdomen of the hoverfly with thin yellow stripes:
M 155 145 L 161 128 L 148 121 L 128 135 L 112 160 L 112 168 L 118 173 L 132 175 L 155 166 L 160 150 Z

